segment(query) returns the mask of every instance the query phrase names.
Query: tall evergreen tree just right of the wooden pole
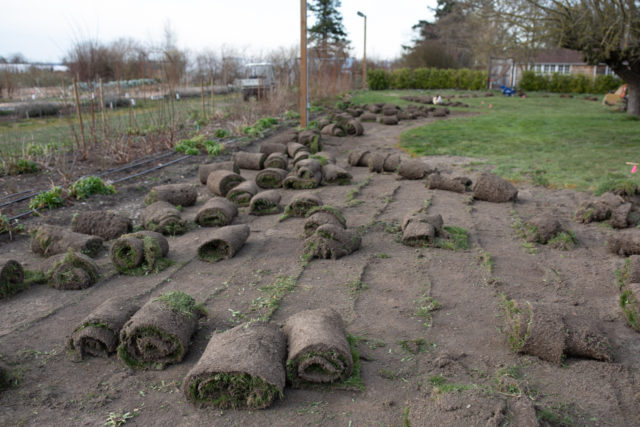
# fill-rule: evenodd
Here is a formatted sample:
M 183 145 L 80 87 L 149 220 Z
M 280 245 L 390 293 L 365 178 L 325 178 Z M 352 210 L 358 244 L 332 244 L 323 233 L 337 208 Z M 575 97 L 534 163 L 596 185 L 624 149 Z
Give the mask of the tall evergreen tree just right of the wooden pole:
M 309 42 L 318 57 L 347 54 L 349 40 L 338 11 L 340 6 L 340 0 L 312 0 L 308 4 L 309 10 L 315 15 L 315 23 L 308 29 Z

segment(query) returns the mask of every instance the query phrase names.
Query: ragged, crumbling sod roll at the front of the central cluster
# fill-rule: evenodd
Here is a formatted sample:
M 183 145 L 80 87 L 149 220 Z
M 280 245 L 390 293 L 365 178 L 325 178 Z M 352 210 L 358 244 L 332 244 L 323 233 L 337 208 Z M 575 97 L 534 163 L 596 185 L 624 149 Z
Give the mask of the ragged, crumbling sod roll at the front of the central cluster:
M 305 256 L 338 259 L 358 250 L 361 243 L 357 232 L 334 224 L 323 224 L 305 240 Z

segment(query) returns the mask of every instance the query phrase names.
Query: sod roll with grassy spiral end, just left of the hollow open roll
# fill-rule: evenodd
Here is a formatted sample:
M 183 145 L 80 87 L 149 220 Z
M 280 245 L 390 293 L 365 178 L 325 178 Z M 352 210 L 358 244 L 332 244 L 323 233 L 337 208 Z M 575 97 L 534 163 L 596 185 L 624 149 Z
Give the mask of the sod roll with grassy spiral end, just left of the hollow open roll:
M 111 246 L 109 256 L 116 269 L 124 274 L 140 276 L 158 273 L 169 266 L 165 259 L 169 242 L 155 231 L 125 234 Z

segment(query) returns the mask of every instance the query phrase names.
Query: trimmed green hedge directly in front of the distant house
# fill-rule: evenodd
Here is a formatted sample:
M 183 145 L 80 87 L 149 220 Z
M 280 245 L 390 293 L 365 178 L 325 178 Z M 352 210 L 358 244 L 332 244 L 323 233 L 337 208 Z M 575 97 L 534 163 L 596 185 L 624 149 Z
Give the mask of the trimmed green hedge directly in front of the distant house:
M 521 90 L 534 92 L 560 92 L 560 93 L 607 93 L 616 90 L 622 82 L 613 76 L 599 75 L 591 79 L 583 74 L 566 75 L 554 73 L 553 75 L 541 75 L 534 71 L 522 73 L 519 87 Z

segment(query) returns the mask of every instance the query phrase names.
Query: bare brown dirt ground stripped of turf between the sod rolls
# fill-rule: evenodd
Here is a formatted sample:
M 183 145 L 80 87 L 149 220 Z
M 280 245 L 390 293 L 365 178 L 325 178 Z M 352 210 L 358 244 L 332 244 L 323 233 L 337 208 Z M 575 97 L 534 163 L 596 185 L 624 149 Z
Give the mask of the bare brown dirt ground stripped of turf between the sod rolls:
M 365 231 L 361 249 L 352 255 L 305 264 L 300 260 L 303 219 L 278 222 L 279 215 L 254 217 L 242 208 L 234 223 L 248 224 L 251 235 L 230 260 L 200 261 L 197 244 L 210 230 L 198 229 L 169 238 L 169 256 L 177 262 L 157 275 L 118 275 L 105 253 L 99 258 L 104 277 L 89 289 L 33 286 L 0 300 L 0 353 L 20 380 L 0 394 L 0 424 L 104 425 L 111 420 L 118 425 L 117 417 L 128 412 L 127 424 L 145 426 L 640 425 L 640 335 L 626 325 L 615 283 L 624 259 L 606 250 L 611 228 L 572 220 L 578 205 L 592 196 L 519 185 L 515 204 L 472 201 L 471 193 L 429 190 L 424 180 L 398 180 L 396 174 L 370 174 L 347 164 L 348 152 L 356 148 L 395 152 L 402 131 L 430 120 L 365 124 L 362 137 L 324 138 L 325 150 L 354 180 L 314 191 L 342 210 L 350 228 Z M 470 164 L 474 160 L 425 162 L 473 180 L 480 172 Z M 195 183 L 196 174 L 195 162 L 167 168 L 121 188 L 116 197 L 93 197 L 41 220 L 68 224 L 77 209 L 109 208 L 139 222 L 149 187 Z M 188 218 L 209 197 L 204 186 L 199 191 L 198 204 L 184 210 Z M 296 193 L 281 192 L 282 204 Z M 445 225 L 468 230 L 470 248 L 399 243 L 403 217 L 425 206 L 429 214 L 441 214 Z M 573 230 L 579 242 L 575 249 L 523 247 L 512 222 L 542 212 Z M 40 262 L 26 237 L 0 244 L 0 260 L 15 258 L 30 269 Z M 256 304 L 265 294 L 260 288 L 282 276 L 297 284 L 271 321 L 282 323 L 304 309 L 335 308 L 348 333 L 358 338 L 364 391 L 286 388 L 282 400 L 260 411 L 188 403 L 179 387 L 209 338 L 263 314 Z M 67 337 L 106 298 L 169 290 L 189 293 L 209 313 L 182 363 L 134 371 L 116 357 L 70 360 Z M 514 354 L 502 332 L 501 293 L 567 312 L 587 311 L 606 333 L 613 362 L 568 358 L 556 366 Z

